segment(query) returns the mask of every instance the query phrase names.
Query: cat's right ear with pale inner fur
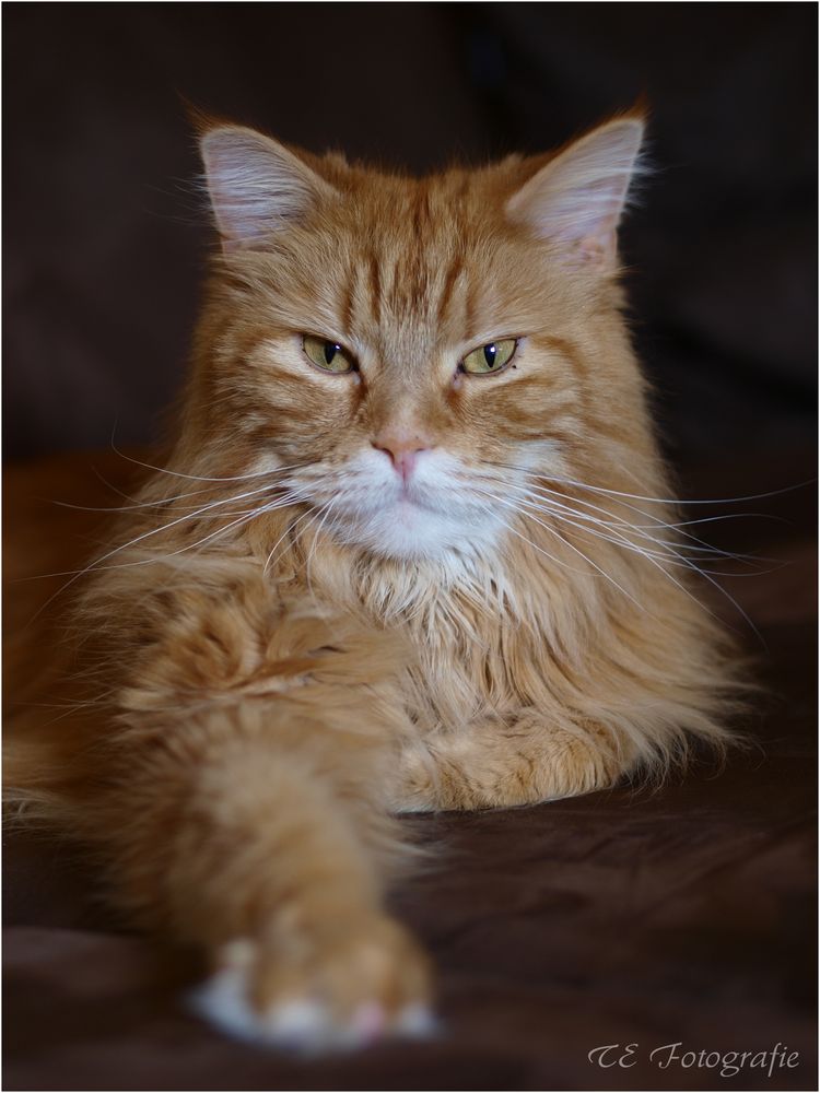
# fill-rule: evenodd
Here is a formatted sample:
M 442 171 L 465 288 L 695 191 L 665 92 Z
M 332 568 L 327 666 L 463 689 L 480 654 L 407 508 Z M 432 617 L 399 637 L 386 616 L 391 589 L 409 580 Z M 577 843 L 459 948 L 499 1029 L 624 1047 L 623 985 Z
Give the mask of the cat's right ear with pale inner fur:
M 641 151 L 644 122 L 623 117 L 594 129 L 513 195 L 507 215 L 601 271 L 617 260 L 617 230 Z

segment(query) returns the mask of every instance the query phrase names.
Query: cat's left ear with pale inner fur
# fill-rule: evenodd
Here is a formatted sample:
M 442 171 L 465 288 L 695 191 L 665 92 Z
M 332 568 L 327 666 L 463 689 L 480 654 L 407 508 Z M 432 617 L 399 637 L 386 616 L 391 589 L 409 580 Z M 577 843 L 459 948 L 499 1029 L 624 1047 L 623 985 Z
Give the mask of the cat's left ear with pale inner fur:
M 336 193 L 293 152 L 254 129 L 218 125 L 199 146 L 225 250 L 253 249 Z

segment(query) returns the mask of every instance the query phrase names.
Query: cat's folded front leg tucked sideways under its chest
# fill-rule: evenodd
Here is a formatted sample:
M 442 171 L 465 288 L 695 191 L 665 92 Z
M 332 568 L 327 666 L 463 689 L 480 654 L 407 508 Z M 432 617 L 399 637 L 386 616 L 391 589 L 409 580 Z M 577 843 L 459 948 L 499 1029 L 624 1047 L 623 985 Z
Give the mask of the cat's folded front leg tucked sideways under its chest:
M 630 754 L 601 730 L 570 731 L 527 710 L 407 743 L 393 807 L 427 812 L 532 804 L 611 786 L 631 766 Z

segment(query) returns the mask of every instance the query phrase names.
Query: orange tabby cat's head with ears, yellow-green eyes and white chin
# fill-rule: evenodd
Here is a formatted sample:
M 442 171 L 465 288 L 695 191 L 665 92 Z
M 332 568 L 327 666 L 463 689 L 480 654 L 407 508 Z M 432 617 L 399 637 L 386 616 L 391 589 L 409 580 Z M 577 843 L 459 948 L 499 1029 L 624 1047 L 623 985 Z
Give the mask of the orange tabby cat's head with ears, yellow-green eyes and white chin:
M 209 443 L 292 468 L 327 530 L 393 557 L 488 552 L 528 472 L 641 448 L 616 233 L 642 133 L 625 116 L 555 154 L 413 179 L 209 128 Z

